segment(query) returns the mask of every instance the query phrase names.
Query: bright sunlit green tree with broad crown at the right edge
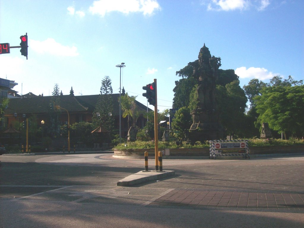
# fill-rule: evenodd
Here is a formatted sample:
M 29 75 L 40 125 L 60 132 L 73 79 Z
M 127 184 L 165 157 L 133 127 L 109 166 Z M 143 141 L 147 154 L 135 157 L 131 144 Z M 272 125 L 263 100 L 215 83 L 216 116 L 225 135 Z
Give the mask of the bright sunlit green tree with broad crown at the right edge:
M 258 122 L 278 133 L 304 134 L 304 86 L 268 86 L 254 97 Z

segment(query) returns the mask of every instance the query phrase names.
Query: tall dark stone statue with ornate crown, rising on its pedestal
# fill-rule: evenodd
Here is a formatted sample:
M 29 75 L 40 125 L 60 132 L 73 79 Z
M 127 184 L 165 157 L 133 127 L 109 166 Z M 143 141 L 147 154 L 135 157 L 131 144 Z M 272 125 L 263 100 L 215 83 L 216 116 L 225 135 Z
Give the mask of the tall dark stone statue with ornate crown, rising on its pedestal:
M 221 139 L 223 127 L 219 122 L 215 96 L 217 71 L 221 66 L 221 59 L 211 56 L 209 48 L 204 44 L 199 51 L 199 60 L 195 63 L 192 76 L 198 82 L 198 100 L 195 110 L 191 113 L 193 124 L 189 138 L 193 143 Z

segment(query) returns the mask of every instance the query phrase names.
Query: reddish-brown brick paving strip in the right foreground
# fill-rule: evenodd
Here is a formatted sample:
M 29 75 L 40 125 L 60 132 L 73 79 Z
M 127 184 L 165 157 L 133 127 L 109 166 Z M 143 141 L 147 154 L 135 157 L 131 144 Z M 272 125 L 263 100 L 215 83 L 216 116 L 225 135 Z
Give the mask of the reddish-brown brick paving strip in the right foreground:
M 304 211 L 304 194 L 173 190 L 150 205 L 211 206 Z

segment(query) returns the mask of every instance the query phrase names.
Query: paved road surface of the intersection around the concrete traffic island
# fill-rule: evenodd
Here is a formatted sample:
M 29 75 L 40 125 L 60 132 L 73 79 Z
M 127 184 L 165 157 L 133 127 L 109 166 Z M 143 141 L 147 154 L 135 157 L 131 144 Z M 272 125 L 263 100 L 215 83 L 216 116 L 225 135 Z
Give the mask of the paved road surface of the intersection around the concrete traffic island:
M 175 176 L 117 181 L 144 160 L 0 156 L 0 227 L 303 227 L 304 157 L 163 160 Z M 149 160 L 154 169 L 154 160 Z

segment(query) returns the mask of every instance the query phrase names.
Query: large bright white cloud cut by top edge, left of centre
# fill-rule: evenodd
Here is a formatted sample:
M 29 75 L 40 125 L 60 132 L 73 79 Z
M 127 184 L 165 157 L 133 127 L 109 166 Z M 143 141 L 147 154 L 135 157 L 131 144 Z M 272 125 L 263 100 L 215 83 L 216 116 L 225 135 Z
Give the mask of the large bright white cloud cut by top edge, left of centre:
M 117 11 L 124 14 L 142 12 L 143 15 L 152 15 L 155 10 L 161 7 L 156 0 L 98 0 L 94 1 L 89 11 L 100 16 L 106 13 Z

